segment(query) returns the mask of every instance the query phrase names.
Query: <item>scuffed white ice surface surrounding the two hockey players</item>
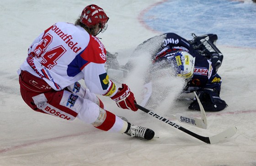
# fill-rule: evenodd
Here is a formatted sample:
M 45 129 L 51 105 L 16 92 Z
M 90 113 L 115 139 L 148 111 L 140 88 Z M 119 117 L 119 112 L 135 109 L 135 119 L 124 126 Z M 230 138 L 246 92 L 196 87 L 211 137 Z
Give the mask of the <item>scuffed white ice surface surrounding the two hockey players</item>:
M 210 6 L 200 3 L 205 0 L 193 3 L 196 2 L 204 11 L 212 10 Z M 224 21 L 214 21 L 218 28 L 225 27 L 229 32 L 228 44 L 226 33 L 215 31 L 208 27 L 208 24 L 204 26 L 202 20 L 202 25 L 196 30 L 198 33 L 219 35 L 217 45 L 224 54 L 223 64 L 219 68 L 219 75 L 223 81 L 220 96 L 229 107 L 218 113 L 206 113 L 207 130 L 181 125 L 204 136 L 218 134 L 234 125 L 238 131 L 228 140 L 208 145 L 141 111 L 118 109 L 116 104 L 106 97 L 100 98 L 108 110 L 125 116 L 132 123 L 155 130 L 159 138 L 150 141 L 137 140 L 127 135 L 96 130 L 78 119 L 69 122 L 32 111 L 21 99 L 16 74 L 16 70 L 27 57 L 28 46 L 36 36 L 55 22 L 74 22 L 85 5 L 92 2 L 1 0 L 0 166 L 256 166 L 256 4 L 251 0 L 246 0 L 245 3 L 230 0 L 218 2 L 219 5 L 225 4 L 229 9 L 225 10 L 224 15 L 218 10 L 219 14 L 215 16 L 225 16 Z M 139 43 L 168 31 L 165 21 L 155 19 L 155 22 L 159 22 L 152 25 L 144 20 L 145 16 L 156 18 L 160 13 L 165 13 L 162 15 L 165 16 L 163 19 L 166 19 L 166 16 L 177 17 L 181 4 L 186 6 L 186 10 L 194 9 L 193 5 L 189 8 L 186 5 L 187 1 L 184 0 L 147 0 L 146 3 L 142 0 L 95 0 L 93 3 L 101 6 L 110 17 L 107 31 L 99 37 L 108 51 L 119 52 L 120 63 L 127 61 L 127 56 Z M 165 10 L 151 12 L 152 7 L 161 7 L 163 4 L 166 6 Z M 179 8 L 176 8 L 175 4 L 179 5 Z M 239 17 L 237 22 L 237 17 L 233 16 L 237 16 L 238 11 L 234 10 L 232 5 L 235 5 L 237 10 L 244 11 L 243 15 L 254 17 Z M 174 11 L 176 14 L 172 15 Z M 206 18 L 210 17 L 210 12 L 205 13 Z M 197 14 L 199 17 L 200 13 Z M 182 21 L 182 17 L 176 19 Z M 178 22 L 174 21 L 172 24 L 176 23 Z M 163 30 L 157 28 L 163 26 Z M 187 24 L 187 27 L 191 27 L 190 24 Z M 237 38 L 237 30 L 245 35 L 249 34 L 250 38 Z M 173 32 L 187 37 L 195 31 L 185 31 L 184 28 L 177 27 Z M 237 45 L 237 41 L 241 44 Z M 138 62 L 140 61 L 142 59 L 138 57 Z M 138 101 L 142 87 L 140 76 L 145 72 L 145 66 L 147 65 L 140 65 L 139 70 L 125 80 Z M 184 100 L 183 96 L 176 99 L 181 87 L 179 80 L 160 80 L 166 85 L 169 81 L 177 86 L 171 87 L 173 90 L 166 94 L 167 97 L 154 112 L 165 117 L 171 117 L 171 114 L 176 113 L 200 116 L 199 112 L 187 109 L 189 101 Z

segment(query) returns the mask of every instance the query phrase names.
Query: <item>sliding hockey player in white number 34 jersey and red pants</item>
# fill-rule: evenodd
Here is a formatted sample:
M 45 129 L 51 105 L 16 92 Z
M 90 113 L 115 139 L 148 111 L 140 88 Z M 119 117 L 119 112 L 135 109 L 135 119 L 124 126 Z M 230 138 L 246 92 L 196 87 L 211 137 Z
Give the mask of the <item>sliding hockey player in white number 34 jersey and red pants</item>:
M 153 130 L 124 121 L 96 97 L 107 96 L 120 108 L 138 110 L 128 86 L 117 88 L 104 68 L 106 49 L 96 35 L 107 29 L 108 19 L 102 8 L 88 5 L 75 24 L 57 22 L 40 34 L 18 70 L 22 99 L 37 112 L 151 140 Z M 87 88 L 78 83 L 81 79 Z

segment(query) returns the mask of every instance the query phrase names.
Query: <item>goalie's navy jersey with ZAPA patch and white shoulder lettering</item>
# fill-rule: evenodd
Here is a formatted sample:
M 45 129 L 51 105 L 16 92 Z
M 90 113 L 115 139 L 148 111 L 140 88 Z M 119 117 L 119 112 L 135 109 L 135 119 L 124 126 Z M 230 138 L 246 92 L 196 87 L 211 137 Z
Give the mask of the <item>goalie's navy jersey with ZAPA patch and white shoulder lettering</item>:
M 169 57 L 174 56 L 177 51 L 187 51 L 193 57 L 196 57 L 196 60 L 193 77 L 187 83 L 184 92 L 190 93 L 199 88 L 213 88 L 220 92 L 221 77 L 217 74 L 215 66 L 212 65 L 212 62 L 208 58 L 200 55 L 197 50 L 192 47 L 189 41 L 175 33 L 165 33 L 163 36 L 164 40 L 162 44 L 155 51 L 157 53 L 152 54 L 153 64 L 155 62 L 167 60 Z M 147 41 L 152 40 L 155 37 L 152 37 Z M 147 41 L 144 41 L 141 45 L 145 44 Z M 141 47 L 141 45 L 139 45 L 139 47 Z

